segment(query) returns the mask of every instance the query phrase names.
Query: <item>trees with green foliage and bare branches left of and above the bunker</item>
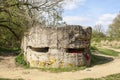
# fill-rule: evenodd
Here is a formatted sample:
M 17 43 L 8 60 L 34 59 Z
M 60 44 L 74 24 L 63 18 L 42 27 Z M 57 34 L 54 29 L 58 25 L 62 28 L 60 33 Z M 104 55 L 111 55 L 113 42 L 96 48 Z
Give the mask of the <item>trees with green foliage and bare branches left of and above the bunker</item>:
M 24 32 L 31 27 L 58 24 L 61 4 L 62 0 L 0 0 L 0 46 L 20 48 Z

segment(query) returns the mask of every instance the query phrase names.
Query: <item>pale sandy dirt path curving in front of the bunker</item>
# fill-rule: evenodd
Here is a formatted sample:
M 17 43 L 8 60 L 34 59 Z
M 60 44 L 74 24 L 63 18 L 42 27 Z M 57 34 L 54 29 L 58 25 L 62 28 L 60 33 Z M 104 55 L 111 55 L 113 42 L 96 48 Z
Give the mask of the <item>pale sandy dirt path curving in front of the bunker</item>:
M 38 69 L 23 69 L 14 64 L 14 57 L 0 56 L 0 78 L 25 80 L 80 80 L 83 78 L 99 78 L 110 74 L 120 73 L 120 59 L 96 65 L 76 72 L 50 73 Z

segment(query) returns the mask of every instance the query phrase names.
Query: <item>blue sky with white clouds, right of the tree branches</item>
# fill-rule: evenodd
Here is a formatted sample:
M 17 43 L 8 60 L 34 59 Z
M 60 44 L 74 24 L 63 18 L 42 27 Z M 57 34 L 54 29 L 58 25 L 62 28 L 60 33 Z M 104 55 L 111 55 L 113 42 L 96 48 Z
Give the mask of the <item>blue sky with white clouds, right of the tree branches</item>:
M 107 27 L 120 12 L 120 0 L 66 0 L 63 20 L 67 24 Z

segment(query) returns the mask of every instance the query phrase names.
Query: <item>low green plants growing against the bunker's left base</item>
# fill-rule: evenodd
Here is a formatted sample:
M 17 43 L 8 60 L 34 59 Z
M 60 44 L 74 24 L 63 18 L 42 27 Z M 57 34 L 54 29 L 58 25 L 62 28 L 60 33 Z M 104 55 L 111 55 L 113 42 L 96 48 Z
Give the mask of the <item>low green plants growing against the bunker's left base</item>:
M 22 53 L 16 56 L 15 62 L 17 65 L 23 66 L 25 68 L 29 67 L 29 64 L 27 64 L 26 61 L 24 60 L 24 55 Z

